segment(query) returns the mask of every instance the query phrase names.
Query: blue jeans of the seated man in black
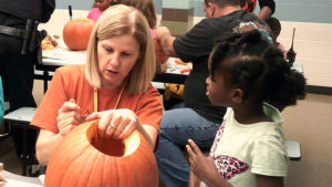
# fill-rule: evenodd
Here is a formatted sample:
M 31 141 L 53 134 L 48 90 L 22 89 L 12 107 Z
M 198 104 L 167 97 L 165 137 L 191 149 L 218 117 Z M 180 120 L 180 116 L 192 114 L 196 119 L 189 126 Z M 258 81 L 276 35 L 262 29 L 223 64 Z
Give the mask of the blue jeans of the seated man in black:
M 159 176 L 167 187 L 187 187 L 189 165 L 183 155 L 188 139 L 209 150 L 220 124 L 210 122 L 194 110 L 166 111 L 160 122 L 159 149 L 155 156 Z

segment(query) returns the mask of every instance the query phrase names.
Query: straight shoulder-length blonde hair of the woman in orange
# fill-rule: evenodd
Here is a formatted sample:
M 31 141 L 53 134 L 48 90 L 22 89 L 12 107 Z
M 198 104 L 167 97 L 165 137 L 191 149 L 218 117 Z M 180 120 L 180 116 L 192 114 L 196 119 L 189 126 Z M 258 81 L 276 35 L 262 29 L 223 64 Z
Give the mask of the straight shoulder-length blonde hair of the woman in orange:
M 90 35 L 85 77 L 92 86 L 101 87 L 97 42 L 122 34 L 133 35 L 141 46 L 139 56 L 125 79 L 126 89 L 129 94 L 143 93 L 155 75 L 156 56 L 148 23 L 133 7 L 112 6 L 100 17 Z

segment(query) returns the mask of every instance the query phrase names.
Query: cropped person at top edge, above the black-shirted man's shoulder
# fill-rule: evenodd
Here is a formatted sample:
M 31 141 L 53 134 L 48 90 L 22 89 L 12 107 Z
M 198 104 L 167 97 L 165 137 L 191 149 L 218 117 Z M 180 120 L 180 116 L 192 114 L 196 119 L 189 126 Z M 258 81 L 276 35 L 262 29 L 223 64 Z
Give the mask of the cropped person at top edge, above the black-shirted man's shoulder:
M 253 12 L 256 8 L 257 0 L 241 0 L 242 10 L 247 10 L 249 12 Z M 274 0 L 258 0 L 260 11 L 258 13 L 258 18 L 262 20 L 267 20 L 270 18 L 276 11 L 276 2 Z

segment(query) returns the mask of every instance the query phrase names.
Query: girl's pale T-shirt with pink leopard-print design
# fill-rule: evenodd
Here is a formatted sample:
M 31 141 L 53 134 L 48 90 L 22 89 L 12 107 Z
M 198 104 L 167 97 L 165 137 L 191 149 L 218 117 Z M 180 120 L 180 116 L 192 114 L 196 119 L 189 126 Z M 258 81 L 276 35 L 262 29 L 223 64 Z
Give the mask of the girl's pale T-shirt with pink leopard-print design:
M 235 187 L 256 187 L 256 174 L 287 176 L 282 116 L 268 104 L 263 104 L 263 111 L 272 122 L 240 124 L 232 108 L 228 108 L 217 132 L 209 157 L 219 174 Z

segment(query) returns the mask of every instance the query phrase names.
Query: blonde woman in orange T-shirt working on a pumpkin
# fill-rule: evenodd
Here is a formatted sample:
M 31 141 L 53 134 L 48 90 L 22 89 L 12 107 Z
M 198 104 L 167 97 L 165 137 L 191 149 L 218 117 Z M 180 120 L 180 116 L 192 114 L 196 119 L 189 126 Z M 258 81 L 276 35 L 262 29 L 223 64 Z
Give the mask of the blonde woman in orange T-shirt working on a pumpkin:
M 108 8 L 91 33 L 86 65 L 55 72 L 31 122 L 41 127 L 35 146 L 40 165 L 48 164 L 76 125 L 96 118 L 98 135 L 125 138 L 137 129 L 154 149 L 163 113 L 159 93 L 151 85 L 154 54 L 144 15 L 126 6 Z

